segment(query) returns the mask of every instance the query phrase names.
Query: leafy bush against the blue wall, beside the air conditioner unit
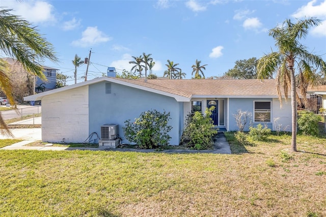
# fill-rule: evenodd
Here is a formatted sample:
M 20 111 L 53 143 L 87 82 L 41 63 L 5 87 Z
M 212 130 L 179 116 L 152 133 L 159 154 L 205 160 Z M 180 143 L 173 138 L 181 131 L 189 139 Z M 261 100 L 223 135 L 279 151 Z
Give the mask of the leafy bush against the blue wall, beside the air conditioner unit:
M 126 120 L 122 128 L 129 142 L 136 143 L 142 149 L 158 148 L 169 145 L 170 119 L 170 113 L 151 110 L 143 112 L 134 122 Z

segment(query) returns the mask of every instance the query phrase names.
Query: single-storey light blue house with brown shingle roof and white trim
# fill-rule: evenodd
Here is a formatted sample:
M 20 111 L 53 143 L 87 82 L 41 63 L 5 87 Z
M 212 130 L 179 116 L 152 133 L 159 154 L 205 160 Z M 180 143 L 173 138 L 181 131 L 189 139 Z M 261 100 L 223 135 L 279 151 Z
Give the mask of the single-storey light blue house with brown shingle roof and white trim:
M 290 94 L 289 94 L 290 95 Z M 253 114 L 248 121 L 255 126 L 277 125 L 291 130 L 291 100 L 278 100 L 274 79 L 122 79 L 100 77 L 87 82 L 24 97 L 42 100 L 42 140 L 46 142 L 84 142 L 91 133 L 99 137 L 103 124 L 118 124 L 118 133 L 126 141 L 122 127 L 144 111 L 170 112 L 171 145 L 178 145 L 186 116 L 215 106 L 214 124 L 225 130 L 238 130 L 234 114 L 238 110 Z M 261 122 L 259 114 L 267 119 Z M 98 142 L 98 141 L 97 141 Z

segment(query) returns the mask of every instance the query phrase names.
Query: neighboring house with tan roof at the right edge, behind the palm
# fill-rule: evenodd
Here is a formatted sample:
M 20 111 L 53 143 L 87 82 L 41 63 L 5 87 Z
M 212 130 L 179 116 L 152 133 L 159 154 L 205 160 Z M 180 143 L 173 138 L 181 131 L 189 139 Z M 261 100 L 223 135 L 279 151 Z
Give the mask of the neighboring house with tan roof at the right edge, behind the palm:
M 318 113 L 319 108 L 326 108 L 326 85 L 319 85 L 318 87 L 308 87 L 307 94 L 309 95 L 310 101 L 313 103 L 313 110 Z

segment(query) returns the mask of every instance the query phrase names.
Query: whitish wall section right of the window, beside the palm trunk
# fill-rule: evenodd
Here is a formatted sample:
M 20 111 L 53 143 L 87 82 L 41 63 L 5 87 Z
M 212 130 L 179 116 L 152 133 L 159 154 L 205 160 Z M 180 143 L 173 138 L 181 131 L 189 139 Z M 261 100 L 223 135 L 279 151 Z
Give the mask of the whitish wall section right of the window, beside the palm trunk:
M 282 99 L 282 107 L 280 107 L 280 100 L 274 98 L 271 109 L 271 122 L 273 123 L 273 130 L 276 131 L 276 127 L 281 126 L 281 131 L 292 131 L 292 112 L 291 112 L 291 99 L 287 102 Z M 277 121 L 275 121 L 277 119 Z

